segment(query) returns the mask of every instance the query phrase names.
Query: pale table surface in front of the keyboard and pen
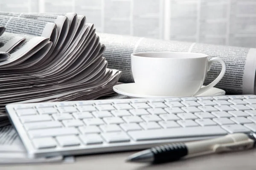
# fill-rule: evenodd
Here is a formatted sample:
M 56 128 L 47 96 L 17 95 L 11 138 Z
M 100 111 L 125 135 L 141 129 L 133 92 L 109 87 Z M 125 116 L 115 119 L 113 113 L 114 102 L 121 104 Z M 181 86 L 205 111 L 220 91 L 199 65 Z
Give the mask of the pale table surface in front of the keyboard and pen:
M 125 162 L 135 152 L 77 156 L 74 163 L 0 165 L 0 170 L 255 170 L 256 150 L 198 156 L 165 164 Z

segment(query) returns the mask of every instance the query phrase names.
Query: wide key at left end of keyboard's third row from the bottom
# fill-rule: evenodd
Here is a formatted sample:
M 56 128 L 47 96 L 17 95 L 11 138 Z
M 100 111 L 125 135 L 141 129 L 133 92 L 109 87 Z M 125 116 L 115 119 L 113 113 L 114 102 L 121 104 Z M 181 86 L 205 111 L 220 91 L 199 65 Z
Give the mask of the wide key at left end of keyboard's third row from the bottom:
M 62 127 L 62 124 L 61 122 L 58 122 L 58 121 L 35 122 L 35 123 L 25 123 L 24 127 L 26 130 L 48 129 L 52 127 Z

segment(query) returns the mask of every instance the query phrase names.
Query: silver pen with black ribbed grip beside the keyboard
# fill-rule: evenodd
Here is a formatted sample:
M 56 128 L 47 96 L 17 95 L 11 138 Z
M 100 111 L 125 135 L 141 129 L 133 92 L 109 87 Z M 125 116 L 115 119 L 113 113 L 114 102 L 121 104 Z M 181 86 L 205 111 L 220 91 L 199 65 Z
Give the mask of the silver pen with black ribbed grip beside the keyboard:
M 213 139 L 152 147 L 129 156 L 126 161 L 162 163 L 175 161 L 184 156 L 248 150 L 253 148 L 255 143 L 255 133 L 233 133 Z

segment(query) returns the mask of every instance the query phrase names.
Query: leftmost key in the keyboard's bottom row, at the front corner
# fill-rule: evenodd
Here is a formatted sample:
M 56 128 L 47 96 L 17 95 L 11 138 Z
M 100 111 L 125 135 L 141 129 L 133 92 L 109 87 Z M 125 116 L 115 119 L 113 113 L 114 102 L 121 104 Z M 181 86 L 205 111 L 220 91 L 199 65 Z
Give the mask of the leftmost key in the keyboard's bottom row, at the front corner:
M 57 146 L 57 143 L 52 137 L 33 139 L 32 142 L 36 149 L 48 149 Z

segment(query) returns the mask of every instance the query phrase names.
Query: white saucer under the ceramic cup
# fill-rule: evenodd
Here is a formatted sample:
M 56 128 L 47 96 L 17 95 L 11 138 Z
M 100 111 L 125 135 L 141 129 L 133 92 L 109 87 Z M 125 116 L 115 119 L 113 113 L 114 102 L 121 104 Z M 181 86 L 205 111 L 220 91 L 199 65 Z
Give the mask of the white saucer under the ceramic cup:
M 204 87 L 204 85 L 202 87 Z M 140 91 L 138 91 L 138 88 L 136 87 L 135 83 L 125 83 L 125 84 L 115 85 L 113 87 L 113 90 L 118 94 L 122 94 L 122 95 L 128 96 L 130 98 L 169 98 L 169 97 L 173 97 L 173 96 L 150 96 L 150 95 L 141 94 Z M 224 90 L 221 90 L 219 88 L 211 88 L 208 91 L 206 91 L 202 94 L 199 94 L 198 96 L 219 96 L 219 95 L 225 95 L 225 94 L 226 94 L 226 92 Z

